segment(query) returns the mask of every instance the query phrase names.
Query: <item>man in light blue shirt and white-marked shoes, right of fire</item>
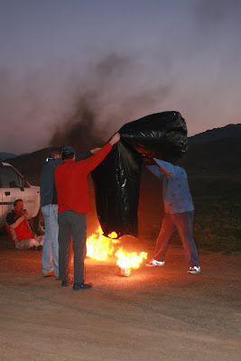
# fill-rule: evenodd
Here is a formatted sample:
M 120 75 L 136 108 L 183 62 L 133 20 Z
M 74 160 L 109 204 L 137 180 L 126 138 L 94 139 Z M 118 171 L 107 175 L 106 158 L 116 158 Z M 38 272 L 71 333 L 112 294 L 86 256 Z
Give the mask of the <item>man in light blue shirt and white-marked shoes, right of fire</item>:
M 147 168 L 162 180 L 165 217 L 162 229 L 157 237 L 153 260 L 146 264 L 149 267 L 164 264 L 168 242 L 174 231 L 178 231 L 184 249 L 185 258 L 190 266 L 189 273 L 200 272 L 198 250 L 193 239 L 194 206 L 190 196 L 190 188 L 186 171 L 154 159 L 156 165 Z

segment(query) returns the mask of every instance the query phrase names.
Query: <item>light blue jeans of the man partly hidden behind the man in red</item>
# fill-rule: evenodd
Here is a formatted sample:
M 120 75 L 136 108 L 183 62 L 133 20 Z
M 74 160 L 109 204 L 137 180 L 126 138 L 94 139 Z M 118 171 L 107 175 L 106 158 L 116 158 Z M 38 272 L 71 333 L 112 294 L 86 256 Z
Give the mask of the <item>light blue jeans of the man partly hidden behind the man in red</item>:
M 41 208 L 45 224 L 45 239 L 42 246 L 42 273 L 54 271 L 59 276 L 59 226 L 58 205 L 48 204 Z

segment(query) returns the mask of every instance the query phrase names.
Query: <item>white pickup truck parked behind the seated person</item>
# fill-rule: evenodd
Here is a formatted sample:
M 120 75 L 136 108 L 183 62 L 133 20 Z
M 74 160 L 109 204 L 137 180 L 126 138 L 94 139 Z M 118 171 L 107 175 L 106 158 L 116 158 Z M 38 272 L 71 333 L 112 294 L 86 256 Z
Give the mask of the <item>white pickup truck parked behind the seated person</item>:
M 0 162 L 0 227 L 5 227 L 6 215 L 14 209 L 15 199 L 23 199 L 32 230 L 43 235 L 40 187 L 32 186 L 13 165 Z

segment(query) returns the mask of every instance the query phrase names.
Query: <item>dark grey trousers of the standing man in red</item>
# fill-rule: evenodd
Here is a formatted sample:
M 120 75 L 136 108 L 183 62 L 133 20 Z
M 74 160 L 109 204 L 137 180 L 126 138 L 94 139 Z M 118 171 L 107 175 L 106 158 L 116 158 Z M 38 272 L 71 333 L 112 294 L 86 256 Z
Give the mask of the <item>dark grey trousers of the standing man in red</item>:
M 84 261 L 87 254 L 87 220 L 85 213 L 65 210 L 58 215 L 60 280 L 70 279 L 71 241 L 74 251 L 74 282 L 84 282 Z

